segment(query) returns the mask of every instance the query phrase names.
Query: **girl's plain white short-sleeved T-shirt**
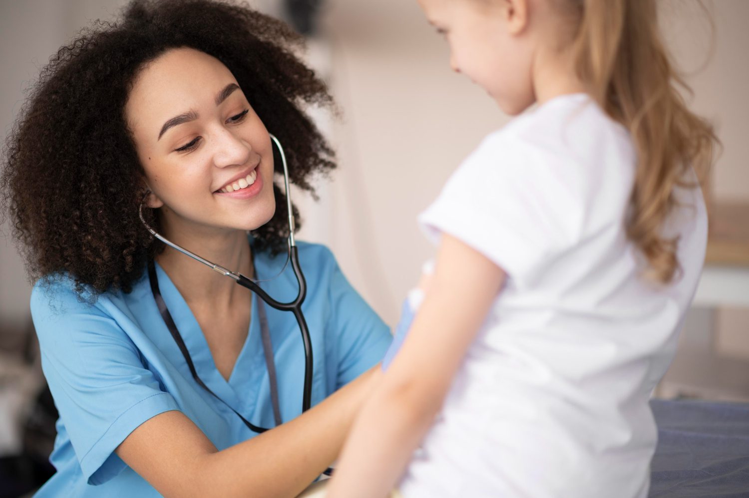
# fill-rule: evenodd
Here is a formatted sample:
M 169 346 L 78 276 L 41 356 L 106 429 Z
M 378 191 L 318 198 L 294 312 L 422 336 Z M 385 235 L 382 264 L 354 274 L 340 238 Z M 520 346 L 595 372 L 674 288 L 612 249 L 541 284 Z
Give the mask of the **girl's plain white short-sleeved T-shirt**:
M 646 497 L 652 389 L 669 365 L 706 246 L 700 189 L 673 283 L 642 276 L 625 236 L 635 152 L 585 94 L 488 136 L 419 216 L 507 273 L 443 410 L 399 488 L 406 498 Z

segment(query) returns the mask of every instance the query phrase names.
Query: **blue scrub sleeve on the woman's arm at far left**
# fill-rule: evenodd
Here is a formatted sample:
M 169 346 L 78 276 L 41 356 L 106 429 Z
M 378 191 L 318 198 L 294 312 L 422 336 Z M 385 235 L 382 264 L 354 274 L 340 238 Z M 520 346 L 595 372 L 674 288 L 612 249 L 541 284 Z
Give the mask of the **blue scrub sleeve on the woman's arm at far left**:
M 178 410 L 100 297 L 81 303 L 69 285 L 37 284 L 31 315 L 42 368 L 88 484 L 126 467 L 115 449 L 153 416 Z

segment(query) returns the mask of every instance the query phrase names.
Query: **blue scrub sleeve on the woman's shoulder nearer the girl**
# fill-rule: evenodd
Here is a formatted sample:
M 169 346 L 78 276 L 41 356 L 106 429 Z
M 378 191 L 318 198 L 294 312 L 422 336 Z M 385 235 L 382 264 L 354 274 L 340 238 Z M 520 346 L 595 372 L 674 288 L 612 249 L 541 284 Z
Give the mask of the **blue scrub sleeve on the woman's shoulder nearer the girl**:
M 333 261 L 330 321 L 336 333 L 338 389 L 382 361 L 392 335 L 385 322 L 348 282 L 333 254 L 326 251 Z

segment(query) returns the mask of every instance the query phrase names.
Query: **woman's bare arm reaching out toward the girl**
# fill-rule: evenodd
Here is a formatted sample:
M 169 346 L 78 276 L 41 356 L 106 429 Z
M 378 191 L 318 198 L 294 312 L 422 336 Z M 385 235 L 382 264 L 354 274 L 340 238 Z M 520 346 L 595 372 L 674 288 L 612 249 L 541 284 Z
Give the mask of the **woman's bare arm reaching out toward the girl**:
M 218 451 L 184 413 L 144 422 L 115 450 L 169 497 L 295 497 L 338 456 L 380 365 L 296 419 Z

